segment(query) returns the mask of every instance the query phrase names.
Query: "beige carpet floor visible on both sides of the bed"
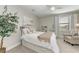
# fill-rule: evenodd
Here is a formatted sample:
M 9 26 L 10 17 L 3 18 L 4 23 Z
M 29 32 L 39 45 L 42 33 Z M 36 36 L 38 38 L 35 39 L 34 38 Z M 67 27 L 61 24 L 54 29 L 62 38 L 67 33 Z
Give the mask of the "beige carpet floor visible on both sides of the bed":
M 57 41 L 61 53 L 79 53 L 79 46 L 72 46 L 64 42 L 63 39 L 57 39 Z M 36 53 L 36 52 L 33 51 L 32 49 L 20 45 L 8 51 L 7 53 Z

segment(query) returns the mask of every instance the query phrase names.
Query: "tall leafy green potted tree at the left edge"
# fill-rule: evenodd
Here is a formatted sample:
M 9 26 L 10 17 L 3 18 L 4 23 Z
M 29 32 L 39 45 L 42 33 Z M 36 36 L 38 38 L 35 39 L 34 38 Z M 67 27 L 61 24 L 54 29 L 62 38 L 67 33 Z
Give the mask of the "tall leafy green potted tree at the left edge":
M 17 23 L 18 17 L 16 13 L 7 12 L 7 6 L 5 6 L 2 15 L 0 15 L 0 53 L 6 52 L 6 48 L 3 47 L 3 40 L 15 31 Z

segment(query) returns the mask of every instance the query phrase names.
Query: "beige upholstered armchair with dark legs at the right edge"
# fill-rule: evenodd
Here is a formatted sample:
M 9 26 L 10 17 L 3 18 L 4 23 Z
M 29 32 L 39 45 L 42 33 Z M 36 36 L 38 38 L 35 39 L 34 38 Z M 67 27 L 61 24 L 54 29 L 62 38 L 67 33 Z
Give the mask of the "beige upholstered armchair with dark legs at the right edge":
M 64 34 L 64 41 L 73 45 L 79 45 L 79 34 L 78 32 Z

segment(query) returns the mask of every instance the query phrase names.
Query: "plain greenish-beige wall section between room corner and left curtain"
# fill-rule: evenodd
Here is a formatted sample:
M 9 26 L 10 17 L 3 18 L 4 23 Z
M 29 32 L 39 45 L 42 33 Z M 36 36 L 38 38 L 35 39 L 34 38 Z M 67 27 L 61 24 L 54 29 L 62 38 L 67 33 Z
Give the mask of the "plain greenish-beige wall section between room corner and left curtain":
M 47 26 L 48 31 L 53 31 L 54 28 L 54 16 L 46 16 L 39 19 L 39 30 L 41 30 L 41 26 Z

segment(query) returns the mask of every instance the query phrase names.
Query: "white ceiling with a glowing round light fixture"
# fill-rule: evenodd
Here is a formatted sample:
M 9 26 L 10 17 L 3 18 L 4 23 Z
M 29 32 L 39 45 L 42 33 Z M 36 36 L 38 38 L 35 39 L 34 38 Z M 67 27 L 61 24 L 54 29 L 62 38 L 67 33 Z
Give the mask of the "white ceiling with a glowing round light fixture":
M 56 8 L 54 11 L 50 10 L 52 6 Z M 37 17 L 79 10 L 78 5 L 22 5 L 21 7 Z

